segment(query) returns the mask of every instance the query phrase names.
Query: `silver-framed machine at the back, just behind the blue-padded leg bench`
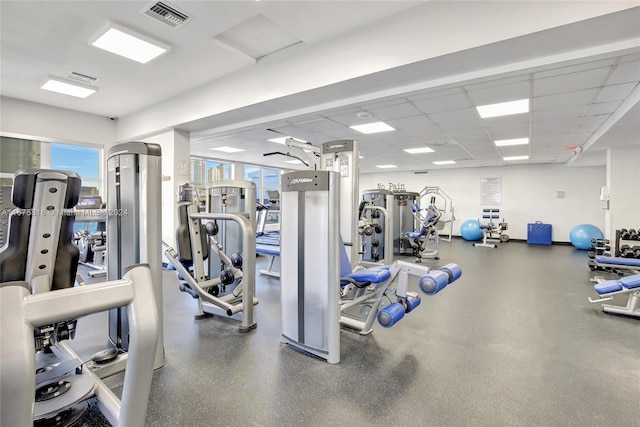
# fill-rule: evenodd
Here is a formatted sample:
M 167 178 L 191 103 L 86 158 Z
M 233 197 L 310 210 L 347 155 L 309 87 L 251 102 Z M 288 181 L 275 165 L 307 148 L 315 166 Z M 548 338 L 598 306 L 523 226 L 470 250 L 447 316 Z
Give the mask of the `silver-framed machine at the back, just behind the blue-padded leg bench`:
M 389 265 L 393 262 L 393 192 L 390 190 L 364 190 L 362 199 L 367 202 L 364 206 L 363 219 L 358 222 L 358 228 L 361 230 L 362 240 L 362 256 L 360 265 L 372 267 L 375 265 Z M 382 215 L 383 221 L 374 219 L 376 214 Z M 375 232 L 367 235 L 362 232 L 363 227 L 372 227 L 375 225 L 382 227 L 382 233 L 379 236 L 379 251 L 382 253 L 379 261 L 367 259 L 367 250 L 373 244 Z

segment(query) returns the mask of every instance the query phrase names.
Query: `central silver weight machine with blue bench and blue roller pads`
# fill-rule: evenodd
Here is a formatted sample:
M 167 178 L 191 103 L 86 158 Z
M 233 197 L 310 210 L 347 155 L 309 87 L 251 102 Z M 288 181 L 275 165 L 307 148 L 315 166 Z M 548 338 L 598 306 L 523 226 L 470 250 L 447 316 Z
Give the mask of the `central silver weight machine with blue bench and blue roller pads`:
M 339 180 L 330 171 L 282 176 L 282 341 L 329 363 L 340 361 L 340 325 L 366 335 L 376 318 L 391 327 L 420 304 L 407 290 L 410 275 L 433 295 L 462 273 L 455 264 L 431 272 L 401 261 L 353 271 L 340 242 Z

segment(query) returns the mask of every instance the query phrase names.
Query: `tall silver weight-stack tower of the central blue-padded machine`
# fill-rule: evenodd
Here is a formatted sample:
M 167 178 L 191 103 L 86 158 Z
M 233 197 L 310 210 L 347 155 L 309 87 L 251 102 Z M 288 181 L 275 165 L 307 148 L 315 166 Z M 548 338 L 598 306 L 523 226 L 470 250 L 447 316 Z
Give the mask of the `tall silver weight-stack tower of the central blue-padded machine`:
M 340 175 L 282 175 L 282 342 L 340 362 Z M 316 262 L 311 262 L 311 254 Z

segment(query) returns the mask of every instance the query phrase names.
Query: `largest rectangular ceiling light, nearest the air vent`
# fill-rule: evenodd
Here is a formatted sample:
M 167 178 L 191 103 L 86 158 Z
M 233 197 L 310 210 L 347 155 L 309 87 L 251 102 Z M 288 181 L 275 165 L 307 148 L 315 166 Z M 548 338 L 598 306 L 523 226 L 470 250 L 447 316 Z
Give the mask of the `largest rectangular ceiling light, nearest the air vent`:
M 114 24 L 110 24 L 91 45 L 141 64 L 169 51 L 169 46 Z

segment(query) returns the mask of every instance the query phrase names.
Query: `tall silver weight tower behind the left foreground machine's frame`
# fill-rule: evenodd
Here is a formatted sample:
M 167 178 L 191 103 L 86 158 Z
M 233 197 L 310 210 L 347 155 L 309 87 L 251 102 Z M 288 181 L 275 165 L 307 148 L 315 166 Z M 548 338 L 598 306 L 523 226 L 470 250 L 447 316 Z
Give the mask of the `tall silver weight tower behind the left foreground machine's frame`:
M 130 265 L 149 265 L 161 327 L 154 369 L 164 365 L 161 155 L 158 144 L 128 142 L 111 147 L 107 156 L 107 279 L 122 278 Z M 127 312 L 110 310 L 109 341 L 120 354 L 112 363 L 94 364 L 102 378 L 124 369 L 128 330 Z

